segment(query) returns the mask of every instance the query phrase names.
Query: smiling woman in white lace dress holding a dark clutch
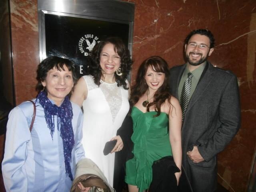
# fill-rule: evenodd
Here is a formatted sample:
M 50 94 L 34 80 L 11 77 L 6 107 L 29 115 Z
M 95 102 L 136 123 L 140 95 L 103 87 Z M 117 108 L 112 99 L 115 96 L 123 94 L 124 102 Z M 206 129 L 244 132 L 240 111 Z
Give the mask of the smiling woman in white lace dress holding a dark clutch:
M 86 158 L 93 160 L 113 186 L 115 152 L 122 150 L 122 138 L 116 131 L 129 110 L 127 81 L 132 60 L 120 38 L 107 38 L 94 46 L 90 75 L 78 80 L 71 101 L 83 106 L 83 139 Z M 106 142 L 117 140 L 104 156 Z

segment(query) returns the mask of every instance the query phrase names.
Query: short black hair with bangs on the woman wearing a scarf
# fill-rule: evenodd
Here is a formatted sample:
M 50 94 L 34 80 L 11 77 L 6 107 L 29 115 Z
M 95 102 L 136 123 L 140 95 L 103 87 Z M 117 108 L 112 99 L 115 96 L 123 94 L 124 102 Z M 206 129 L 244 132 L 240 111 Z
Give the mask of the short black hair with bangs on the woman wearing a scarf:
M 36 84 L 36 90 L 40 92 L 40 90 L 44 88 L 44 86 L 42 85 L 42 81 L 45 80 L 47 72 L 49 70 L 54 67 L 56 67 L 56 69 L 59 71 L 64 70 L 64 65 L 66 65 L 68 70 L 72 72 L 73 82 L 74 84 L 76 84 L 78 79 L 78 66 L 74 64 L 74 62 L 66 58 L 49 56 L 38 65 L 38 68 L 36 70 L 36 80 L 38 81 Z

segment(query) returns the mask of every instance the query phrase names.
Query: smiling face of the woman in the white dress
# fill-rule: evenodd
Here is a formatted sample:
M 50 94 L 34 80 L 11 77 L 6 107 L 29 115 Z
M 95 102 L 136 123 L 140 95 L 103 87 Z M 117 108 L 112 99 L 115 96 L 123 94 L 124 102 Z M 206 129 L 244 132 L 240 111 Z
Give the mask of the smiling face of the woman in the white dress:
M 100 53 L 100 67 L 102 74 L 114 75 L 121 64 L 120 56 L 115 52 L 114 45 L 111 43 L 106 44 Z

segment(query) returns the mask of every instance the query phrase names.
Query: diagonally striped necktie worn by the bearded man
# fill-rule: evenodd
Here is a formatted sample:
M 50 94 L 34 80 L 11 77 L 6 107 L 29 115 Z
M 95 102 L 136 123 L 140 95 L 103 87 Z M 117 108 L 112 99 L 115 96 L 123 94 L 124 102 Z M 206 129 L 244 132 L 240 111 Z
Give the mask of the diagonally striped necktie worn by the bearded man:
M 182 87 L 182 91 L 181 91 L 180 106 L 181 106 L 181 109 L 182 109 L 182 121 L 185 117 L 186 109 L 188 107 L 192 76 L 193 76 L 192 73 L 188 73 L 188 77 L 186 78 L 186 80 L 184 82 L 184 85 Z

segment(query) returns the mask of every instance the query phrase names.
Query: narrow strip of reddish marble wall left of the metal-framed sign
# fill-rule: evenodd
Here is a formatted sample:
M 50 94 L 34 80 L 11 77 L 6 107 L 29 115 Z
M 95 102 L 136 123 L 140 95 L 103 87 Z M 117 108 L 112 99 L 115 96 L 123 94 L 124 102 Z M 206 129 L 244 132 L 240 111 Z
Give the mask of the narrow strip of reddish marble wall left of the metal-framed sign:
M 39 64 L 37 0 L 10 0 L 12 62 L 16 104 L 36 96 Z

